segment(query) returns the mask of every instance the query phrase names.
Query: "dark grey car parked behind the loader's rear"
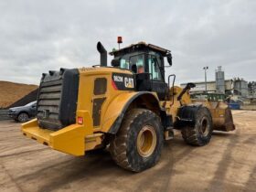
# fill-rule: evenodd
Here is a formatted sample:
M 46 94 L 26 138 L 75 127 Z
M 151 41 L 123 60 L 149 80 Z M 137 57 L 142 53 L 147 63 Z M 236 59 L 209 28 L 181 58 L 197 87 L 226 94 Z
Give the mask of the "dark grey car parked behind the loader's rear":
M 16 122 L 27 122 L 29 118 L 35 117 L 37 112 L 37 101 L 27 103 L 21 107 L 13 107 L 9 109 L 8 115 Z

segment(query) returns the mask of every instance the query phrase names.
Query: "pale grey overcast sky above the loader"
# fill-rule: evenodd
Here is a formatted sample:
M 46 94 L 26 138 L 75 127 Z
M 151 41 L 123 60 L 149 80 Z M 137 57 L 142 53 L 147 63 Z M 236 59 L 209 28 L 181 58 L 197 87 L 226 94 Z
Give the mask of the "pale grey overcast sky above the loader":
M 254 0 L 0 1 L 0 80 L 38 84 L 50 69 L 99 64 L 98 41 L 111 51 L 139 41 L 172 51 L 176 82 L 256 80 Z M 109 65 L 112 57 L 109 56 Z

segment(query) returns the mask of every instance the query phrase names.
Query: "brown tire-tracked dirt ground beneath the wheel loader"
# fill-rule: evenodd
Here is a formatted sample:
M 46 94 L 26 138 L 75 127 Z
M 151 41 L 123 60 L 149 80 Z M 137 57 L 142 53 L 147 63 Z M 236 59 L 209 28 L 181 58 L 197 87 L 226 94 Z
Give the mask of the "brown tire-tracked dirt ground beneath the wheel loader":
M 108 152 L 65 155 L 0 122 L 0 191 L 255 191 L 256 112 L 233 112 L 237 130 L 193 147 L 179 133 L 155 167 L 134 174 Z

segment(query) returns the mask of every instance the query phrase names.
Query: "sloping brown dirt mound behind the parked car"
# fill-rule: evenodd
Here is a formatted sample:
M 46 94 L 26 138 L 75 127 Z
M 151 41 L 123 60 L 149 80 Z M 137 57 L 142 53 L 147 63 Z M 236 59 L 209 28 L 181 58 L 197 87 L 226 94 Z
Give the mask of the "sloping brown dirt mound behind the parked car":
M 27 85 L 0 80 L 0 108 L 10 106 L 15 101 L 38 88 L 37 85 Z

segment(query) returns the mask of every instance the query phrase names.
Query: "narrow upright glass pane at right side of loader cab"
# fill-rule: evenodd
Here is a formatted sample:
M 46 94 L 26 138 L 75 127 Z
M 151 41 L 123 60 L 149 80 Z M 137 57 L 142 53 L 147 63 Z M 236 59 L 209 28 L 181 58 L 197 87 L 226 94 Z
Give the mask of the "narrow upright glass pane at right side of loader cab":
M 157 59 L 155 56 L 148 57 L 148 68 L 149 73 L 151 73 L 152 80 L 163 80 L 161 71 L 159 69 L 160 59 Z

